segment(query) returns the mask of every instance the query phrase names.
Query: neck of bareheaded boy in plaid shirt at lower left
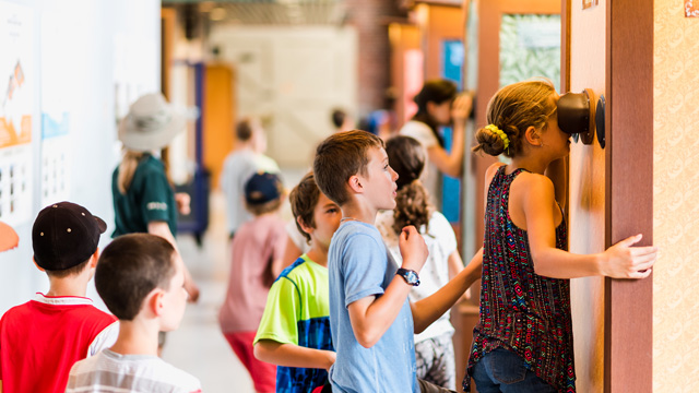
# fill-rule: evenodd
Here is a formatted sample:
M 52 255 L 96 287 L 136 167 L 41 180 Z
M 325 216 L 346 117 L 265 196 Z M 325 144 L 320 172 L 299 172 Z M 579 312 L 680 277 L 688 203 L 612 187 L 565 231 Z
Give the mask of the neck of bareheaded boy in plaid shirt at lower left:
M 156 323 L 139 317 L 133 321 L 119 320 L 119 337 L 109 349 L 120 355 L 157 356 L 158 330 Z

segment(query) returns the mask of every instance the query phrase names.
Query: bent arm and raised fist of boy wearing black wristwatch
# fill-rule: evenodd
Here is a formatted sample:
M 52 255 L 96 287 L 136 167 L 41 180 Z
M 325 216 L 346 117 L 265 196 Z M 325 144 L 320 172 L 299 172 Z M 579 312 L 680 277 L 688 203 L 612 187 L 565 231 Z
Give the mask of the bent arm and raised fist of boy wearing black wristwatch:
M 413 226 L 401 231 L 399 240 L 403 255 L 403 269 L 419 272 L 427 259 L 425 240 Z M 367 296 L 347 306 L 352 330 L 359 345 L 372 347 L 391 326 L 403 307 L 412 286 L 403 277 L 395 275 L 383 295 Z

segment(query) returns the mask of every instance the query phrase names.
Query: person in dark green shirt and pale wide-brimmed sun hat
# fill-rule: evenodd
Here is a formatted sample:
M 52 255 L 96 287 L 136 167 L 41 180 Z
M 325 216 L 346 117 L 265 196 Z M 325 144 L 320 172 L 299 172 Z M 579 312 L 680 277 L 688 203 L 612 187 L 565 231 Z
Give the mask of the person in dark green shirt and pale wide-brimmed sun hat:
M 177 212 L 189 214 L 189 195 L 175 193 L 163 162 L 154 152 L 167 146 L 185 130 L 185 116 L 163 95 L 146 94 L 137 99 L 119 123 L 125 154 L 111 177 L 116 229 L 111 237 L 147 233 L 168 240 L 177 248 Z M 199 288 L 185 266 L 185 289 L 190 301 Z

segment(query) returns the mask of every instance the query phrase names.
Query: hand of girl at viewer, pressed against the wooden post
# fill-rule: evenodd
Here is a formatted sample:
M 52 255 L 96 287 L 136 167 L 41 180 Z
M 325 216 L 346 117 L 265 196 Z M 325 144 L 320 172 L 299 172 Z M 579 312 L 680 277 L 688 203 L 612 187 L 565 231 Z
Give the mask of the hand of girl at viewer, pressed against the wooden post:
M 604 251 L 601 270 L 613 278 L 645 278 L 657 259 L 657 247 L 631 247 L 643 236 L 626 238 Z

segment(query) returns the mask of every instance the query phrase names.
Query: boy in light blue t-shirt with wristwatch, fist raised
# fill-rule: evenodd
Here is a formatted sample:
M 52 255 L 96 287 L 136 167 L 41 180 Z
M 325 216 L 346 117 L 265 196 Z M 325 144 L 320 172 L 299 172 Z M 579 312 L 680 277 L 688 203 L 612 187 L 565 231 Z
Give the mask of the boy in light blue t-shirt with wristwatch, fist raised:
M 342 209 L 340 228 L 328 251 L 330 326 L 336 360 L 333 392 L 449 392 L 415 377 L 413 333 L 443 314 L 479 278 L 472 263 L 443 288 L 411 303 L 427 259 L 425 240 L 403 228 L 396 270 L 374 226 L 379 210 L 395 207 L 398 175 L 383 141 L 366 131 L 325 139 L 316 151 L 313 172 L 320 190 Z M 477 258 L 477 255 L 476 255 Z

